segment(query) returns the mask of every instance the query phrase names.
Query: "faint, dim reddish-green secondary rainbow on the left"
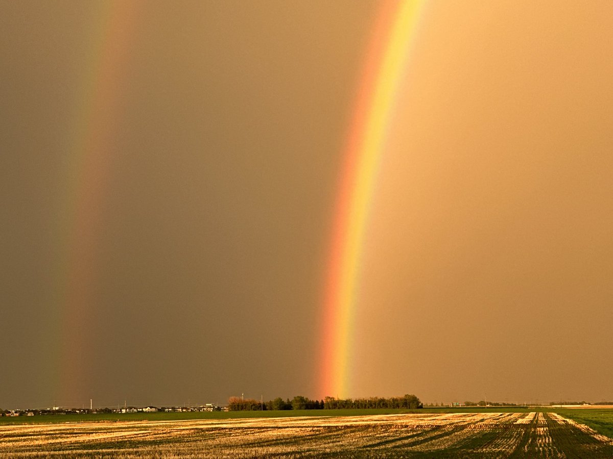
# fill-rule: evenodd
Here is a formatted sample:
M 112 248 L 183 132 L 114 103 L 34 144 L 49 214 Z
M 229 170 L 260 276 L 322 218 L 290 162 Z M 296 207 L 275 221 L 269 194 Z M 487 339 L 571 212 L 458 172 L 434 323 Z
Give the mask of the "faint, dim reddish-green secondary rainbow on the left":
M 137 1 L 91 4 L 91 23 L 83 39 L 89 50 L 80 62 L 74 91 L 72 124 L 67 129 L 58 210 L 58 239 L 63 253 L 56 269 L 56 321 L 58 347 L 50 362 L 59 371 L 55 392 L 63 403 L 91 397 L 85 386 L 93 378 L 88 338 L 97 304 L 99 240 L 103 228 L 104 196 L 109 186 L 114 138 L 121 119 L 121 96 L 126 84 L 126 63 L 133 41 Z

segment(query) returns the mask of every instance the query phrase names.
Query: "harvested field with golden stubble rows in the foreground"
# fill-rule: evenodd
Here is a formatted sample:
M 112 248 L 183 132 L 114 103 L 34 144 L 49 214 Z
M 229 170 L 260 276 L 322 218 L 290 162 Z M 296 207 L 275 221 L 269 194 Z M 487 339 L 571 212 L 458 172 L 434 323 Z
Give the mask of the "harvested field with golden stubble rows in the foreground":
M 613 440 L 556 413 L 481 412 L 6 425 L 0 458 L 613 456 Z

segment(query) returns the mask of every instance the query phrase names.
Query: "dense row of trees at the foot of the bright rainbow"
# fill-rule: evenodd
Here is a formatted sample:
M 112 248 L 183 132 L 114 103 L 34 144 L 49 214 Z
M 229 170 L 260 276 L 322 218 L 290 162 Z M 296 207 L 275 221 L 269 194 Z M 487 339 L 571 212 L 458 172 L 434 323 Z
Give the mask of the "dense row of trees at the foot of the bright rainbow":
M 292 400 L 277 397 L 274 400 L 262 401 L 254 398 L 230 397 L 230 411 L 261 411 L 283 409 L 347 409 L 347 408 L 423 408 L 424 404 L 413 394 L 404 397 L 368 397 L 368 398 L 335 398 L 326 397 L 323 400 L 296 395 Z

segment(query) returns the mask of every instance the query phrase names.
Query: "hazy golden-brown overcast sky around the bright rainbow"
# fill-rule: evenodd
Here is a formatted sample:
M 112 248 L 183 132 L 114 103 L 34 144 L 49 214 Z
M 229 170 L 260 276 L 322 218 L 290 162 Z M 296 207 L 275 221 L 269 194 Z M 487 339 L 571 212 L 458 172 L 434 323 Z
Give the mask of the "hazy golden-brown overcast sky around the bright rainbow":
M 0 408 L 336 395 L 326 269 L 380 9 L 0 0 Z M 349 395 L 613 400 L 613 2 L 431 2 L 415 37 Z

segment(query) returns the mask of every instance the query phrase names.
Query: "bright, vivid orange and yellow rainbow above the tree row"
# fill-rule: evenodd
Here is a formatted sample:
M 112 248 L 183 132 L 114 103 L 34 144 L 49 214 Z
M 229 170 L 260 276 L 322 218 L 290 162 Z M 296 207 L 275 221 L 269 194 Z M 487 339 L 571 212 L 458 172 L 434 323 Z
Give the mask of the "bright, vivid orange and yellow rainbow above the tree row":
M 322 395 L 347 397 L 360 266 L 379 163 L 424 1 L 384 2 L 345 147 L 324 297 Z

